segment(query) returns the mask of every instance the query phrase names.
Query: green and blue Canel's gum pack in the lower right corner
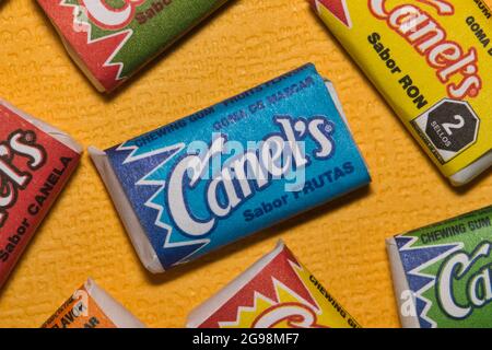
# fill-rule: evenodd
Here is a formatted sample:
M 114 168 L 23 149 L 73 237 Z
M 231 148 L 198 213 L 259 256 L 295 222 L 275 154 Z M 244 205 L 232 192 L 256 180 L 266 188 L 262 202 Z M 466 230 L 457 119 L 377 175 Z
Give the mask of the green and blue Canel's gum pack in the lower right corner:
M 386 242 L 405 328 L 492 326 L 492 207 Z

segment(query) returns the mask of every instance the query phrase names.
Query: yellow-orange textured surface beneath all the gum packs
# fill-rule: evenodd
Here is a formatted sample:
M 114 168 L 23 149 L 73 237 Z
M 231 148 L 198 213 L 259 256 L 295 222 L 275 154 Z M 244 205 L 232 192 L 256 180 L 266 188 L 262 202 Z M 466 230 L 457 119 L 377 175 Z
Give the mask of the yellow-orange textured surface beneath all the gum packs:
M 0 4 L 0 96 L 85 147 L 114 145 L 307 61 L 338 89 L 370 190 L 155 277 L 85 154 L 0 292 L 0 327 L 39 326 L 89 276 L 149 326 L 180 327 L 280 237 L 363 326 L 398 327 L 385 237 L 490 205 L 492 176 L 452 189 L 303 0 L 233 1 L 110 97 L 72 63 L 34 0 Z

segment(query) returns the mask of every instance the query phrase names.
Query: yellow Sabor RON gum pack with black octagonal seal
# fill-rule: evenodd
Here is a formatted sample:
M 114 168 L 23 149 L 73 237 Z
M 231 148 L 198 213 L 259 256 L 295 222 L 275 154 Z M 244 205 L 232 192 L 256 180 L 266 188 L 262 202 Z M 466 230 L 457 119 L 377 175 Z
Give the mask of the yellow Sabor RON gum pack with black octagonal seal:
M 441 172 L 492 165 L 492 11 L 481 0 L 309 0 Z

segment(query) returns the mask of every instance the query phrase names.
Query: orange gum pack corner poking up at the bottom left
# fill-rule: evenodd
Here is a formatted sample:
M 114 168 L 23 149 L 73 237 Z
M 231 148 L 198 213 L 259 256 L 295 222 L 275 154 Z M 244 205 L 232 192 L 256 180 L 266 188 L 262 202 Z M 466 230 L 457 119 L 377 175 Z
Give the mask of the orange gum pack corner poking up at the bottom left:
M 147 328 L 106 291 L 89 279 L 42 328 Z

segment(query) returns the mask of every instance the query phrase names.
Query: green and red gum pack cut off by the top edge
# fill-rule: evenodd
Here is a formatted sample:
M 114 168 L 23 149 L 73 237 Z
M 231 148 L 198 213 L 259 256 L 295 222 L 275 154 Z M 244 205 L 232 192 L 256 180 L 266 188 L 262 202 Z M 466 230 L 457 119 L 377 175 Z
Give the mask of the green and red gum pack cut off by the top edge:
M 226 0 L 37 0 L 73 60 L 110 92 Z

